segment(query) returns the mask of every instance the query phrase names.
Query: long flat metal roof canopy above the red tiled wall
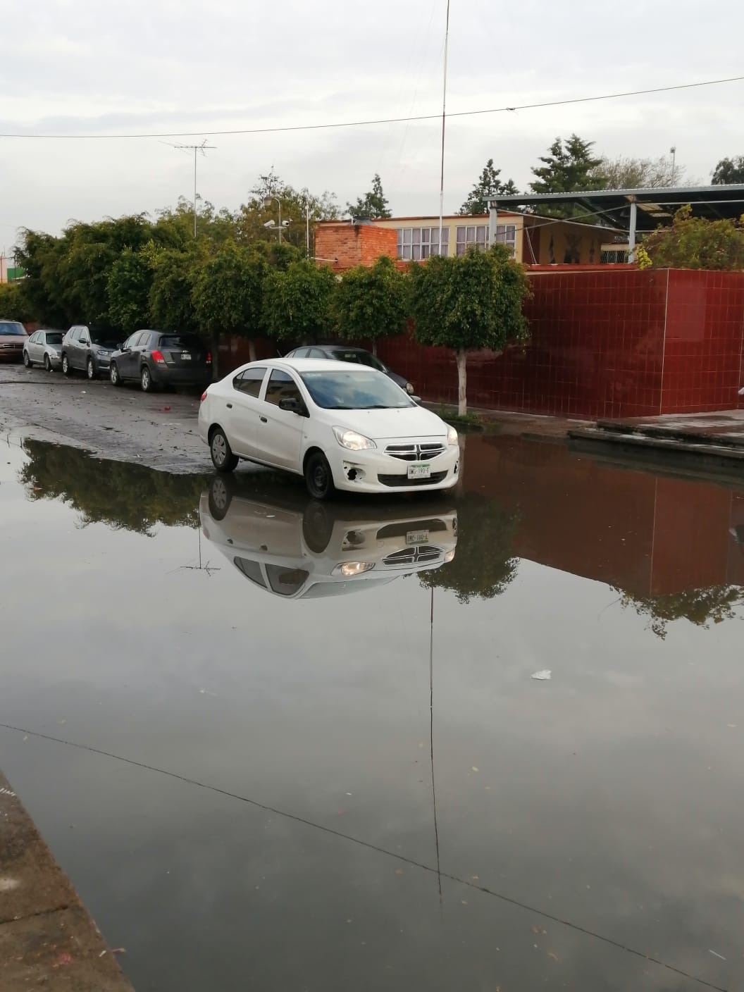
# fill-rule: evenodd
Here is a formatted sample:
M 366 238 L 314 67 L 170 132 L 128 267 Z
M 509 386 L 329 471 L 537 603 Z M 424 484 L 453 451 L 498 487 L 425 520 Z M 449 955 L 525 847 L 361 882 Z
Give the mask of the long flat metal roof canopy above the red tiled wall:
M 675 211 L 689 203 L 692 216 L 708 220 L 740 217 L 744 213 L 744 184 L 731 186 L 663 186 L 655 189 L 579 189 L 575 192 L 536 192 L 491 196 L 488 205 L 498 210 L 572 203 L 600 223 L 633 228 L 639 232 L 671 224 Z M 577 218 L 578 219 L 578 218 Z

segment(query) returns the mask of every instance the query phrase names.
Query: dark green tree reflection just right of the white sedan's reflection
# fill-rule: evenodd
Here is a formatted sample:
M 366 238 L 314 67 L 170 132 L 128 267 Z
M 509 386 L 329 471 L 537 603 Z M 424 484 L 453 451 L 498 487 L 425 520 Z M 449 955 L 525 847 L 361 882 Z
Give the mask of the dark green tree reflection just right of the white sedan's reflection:
M 492 599 L 517 574 L 519 559 L 512 549 L 519 523 L 516 509 L 507 511 L 482 493 L 465 493 L 457 500 L 457 548 L 454 558 L 423 572 L 423 585 L 451 589 L 461 603 Z

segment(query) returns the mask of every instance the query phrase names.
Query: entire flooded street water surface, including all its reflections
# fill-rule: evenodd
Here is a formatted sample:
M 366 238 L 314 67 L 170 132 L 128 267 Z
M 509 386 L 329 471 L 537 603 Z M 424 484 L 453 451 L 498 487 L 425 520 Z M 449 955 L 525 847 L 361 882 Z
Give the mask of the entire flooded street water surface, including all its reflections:
M 138 992 L 744 987 L 744 486 L 463 464 L 3 445 L 0 768 Z

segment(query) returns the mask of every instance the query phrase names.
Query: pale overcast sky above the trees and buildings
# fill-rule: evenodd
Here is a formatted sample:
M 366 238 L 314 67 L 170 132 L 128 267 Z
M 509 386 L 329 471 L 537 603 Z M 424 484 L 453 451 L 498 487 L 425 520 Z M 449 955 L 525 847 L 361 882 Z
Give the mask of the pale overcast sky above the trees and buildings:
M 6 0 L 0 132 L 202 133 L 436 114 L 446 0 Z M 744 4 L 451 0 L 447 109 L 513 106 L 744 74 Z M 659 157 L 691 178 L 744 154 L 744 82 L 452 118 L 456 210 L 492 157 L 520 188 L 557 135 Z M 16 229 L 189 199 L 192 159 L 164 141 L 0 139 L 0 250 Z M 379 172 L 394 214 L 436 214 L 439 123 L 215 136 L 199 192 L 235 208 L 272 166 L 343 206 Z

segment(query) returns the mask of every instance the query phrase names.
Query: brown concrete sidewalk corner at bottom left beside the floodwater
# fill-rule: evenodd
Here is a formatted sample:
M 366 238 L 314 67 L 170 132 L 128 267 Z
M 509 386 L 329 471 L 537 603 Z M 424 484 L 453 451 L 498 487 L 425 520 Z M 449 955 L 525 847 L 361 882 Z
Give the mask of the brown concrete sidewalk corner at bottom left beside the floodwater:
M 133 992 L 0 773 L 0 989 Z

